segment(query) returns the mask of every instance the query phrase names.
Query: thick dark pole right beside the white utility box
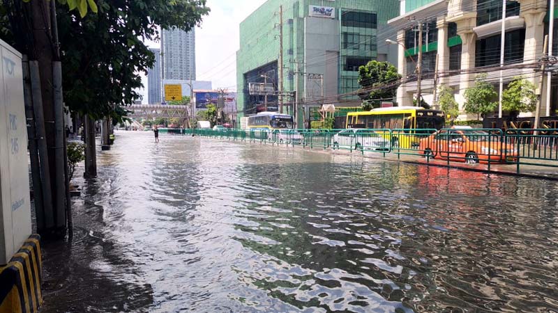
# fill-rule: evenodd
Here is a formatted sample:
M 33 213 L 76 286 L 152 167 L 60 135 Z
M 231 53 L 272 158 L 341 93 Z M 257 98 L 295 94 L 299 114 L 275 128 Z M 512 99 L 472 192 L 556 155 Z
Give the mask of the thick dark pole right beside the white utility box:
M 56 29 L 55 8 L 45 0 L 33 0 L 26 5 L 31 14 L 33 29 L 30 49 L 33 52 L 29 53 L 31 85 L 32 88 L 40 88 L 40 91 L 35 90 L 34 94 L 41 98 L 43 111 L 43 115 L 38 112 L 35 114 L 37 118 L 44 117 L 43 126 L 47 145 L 46 151 L 43 145 L 39 146 L 39 153 L 47 155 L 47 158 L 44 158 L 45 163 L 40 157 L 40 166 L 45 169 L 44 172 L 50 172 L 50 177 L 43 177 L 43 179 L 50 180 L 50 188 L 43 189 L 43 197 L 45 197 L 45 193 L 50 193 L 50 200 L 48 200 L 50 203 L 44 204 L 45 211 L 50 210 L 50 212 L 45 212 L 47 219 L 45 234 L 64 236 L 66 234 L 66 166 L 64 164 L 66 139 L 63 132 L 58 34 L 54 31 Z M 33 102 L 37 98 L 35 95 L 33 95 Z

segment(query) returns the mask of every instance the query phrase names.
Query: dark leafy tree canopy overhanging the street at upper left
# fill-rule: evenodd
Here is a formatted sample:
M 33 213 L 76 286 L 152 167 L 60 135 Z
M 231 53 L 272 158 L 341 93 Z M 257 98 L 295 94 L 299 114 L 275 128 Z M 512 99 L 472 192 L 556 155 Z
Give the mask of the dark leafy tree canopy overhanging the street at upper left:
M 141 73 L 153 67 L 155 56 L 144 42 L 157 41 L 160 29 L 190 31 L 209 13 L 206 0 L 88 0 L 97 14 L 82 16 L 84 0 L 66 0 L 57 8 L 63 97 L 71 111 L 94 119 L 121 115 L 140 99 Z M 8 19 L 0 19 L 2 39 L 30 57 L 30 3 L 3 1 Z M 47 47 L 46 49 L 50 49 Z M 40 54 L 40 51 L 37 52 Z

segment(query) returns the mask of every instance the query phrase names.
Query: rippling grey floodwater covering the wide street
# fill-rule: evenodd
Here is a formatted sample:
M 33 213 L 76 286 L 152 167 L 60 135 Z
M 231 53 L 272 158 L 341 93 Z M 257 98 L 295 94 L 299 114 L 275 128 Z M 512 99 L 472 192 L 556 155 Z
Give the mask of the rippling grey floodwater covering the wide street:
M 43 312 L 558 312 L 557 182 L 116 135 Z

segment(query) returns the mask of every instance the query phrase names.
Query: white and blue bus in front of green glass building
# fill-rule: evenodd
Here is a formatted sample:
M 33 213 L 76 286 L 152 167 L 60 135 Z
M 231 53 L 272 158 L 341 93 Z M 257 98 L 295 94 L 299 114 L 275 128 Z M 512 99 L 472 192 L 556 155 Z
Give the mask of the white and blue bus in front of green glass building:
M 256 138 L 271 138 L 272 134 L 292 133 L 294 122 L 291 115 L 262 112 L 248 117 L 248 129 Z

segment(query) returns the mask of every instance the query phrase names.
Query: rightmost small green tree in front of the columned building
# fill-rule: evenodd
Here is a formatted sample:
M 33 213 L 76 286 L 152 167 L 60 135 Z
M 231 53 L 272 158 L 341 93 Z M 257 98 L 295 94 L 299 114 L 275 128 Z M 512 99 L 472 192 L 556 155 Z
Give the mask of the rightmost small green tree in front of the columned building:
M 514 77 L 502 93 L 502 109 L 514 117 L 535 111 L 536 102 L 535 85 L 523 77 Z

